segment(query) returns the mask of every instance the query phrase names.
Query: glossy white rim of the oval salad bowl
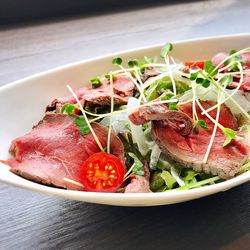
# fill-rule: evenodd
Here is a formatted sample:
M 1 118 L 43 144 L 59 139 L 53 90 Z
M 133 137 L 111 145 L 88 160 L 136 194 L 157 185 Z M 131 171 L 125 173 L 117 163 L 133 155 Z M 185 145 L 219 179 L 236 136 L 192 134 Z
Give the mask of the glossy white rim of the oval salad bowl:
M 173 42 L 173 44 L 185 44 L 185 43 L 194 43 L 194 42 L 200 42 L 200 41 L 212 41 L 212 40 L 218 40 L 218 39 L 230 39 L 230 38 L 250 38 L 250 33 L 241 33 L 241 34 L 231 34 L 231 35 L 223 35 L 223 36 L 210 36 L 210 37 L 199 37 L 199 38 L 193 38 L 193 39 L 185 39 L 185 40 L 178 40 L 176 42 Z M 114 53 L 109 53 L 109 54 L 105 54 L 103 56 L 97 56 L 97 57 L 93 57 L 90 59 L 86 59 L 86 60 L 79 60 L 73 63 L 68 63 L 65 65 L 61 65 L 58 67 L 54 67 L 52 69 L 49 70 L 45 70 L 36 74 L 33 74 L 31 76 L 27 76 L 24 77 L 20 80 L 16 80 L 13 81 L 9 84 L 0 86 L 0 92 L 4 92 L 5 90 L 9 90 L 12 88 L 15 88 L 17 85 L 20 85 L 22 83 L 25 83 L 26 81 L 29 80 L 35 80 L 38 77 L 41 77 L 43 75 L 48 75 L 48 74 L 52 74 L 52 73 L 56 73 L 56 72 L 60 72 L 63 71 L 65 69 L 69 69 L 72 67 L 75 67 L 79 64 L 88 64 L 90 62 L 96 61 L 96 60 L 101 60 L 101 59 L 106 59 L 106 58 L 110 58 L 116 55 L 126 55 L 128 53 L 133 53 L 133 52 L 140 52 L 143 50 L 148 50 L 148 49 L 157 49 L 164 46 L 164 44 L 159 43 L 159 44 L 154 44 L 154 45 L 150 45 L 150 46 L 144 46 L 144 47 L 137 47 L 137 48 L 133 48 L 133 49 L 128 49 L 128 50 L 123 50 L 123 51 L 117 51 Z M 0 175 L 0 181 L 5 182 L 7 184 L 12 184 L 15 186 L 19 186 L 25 189 L 29 189 L 29 190 L 33 190 L 33 191 L 38 191 L 38 192 L 42 192 L 42 193 L 46 193 L 46 194 L 50 194 L 50 195 L 57 195 L 57 196 L 61 196 L 61 197 L 65 197 L 65 195 L 67 195 L 67 198 L 70 199 L 70 196 L 72 196 L 72 199 L 78 199 L 78 200 L 84 200 L 85 198 L 90 198 L 95 196 L 96 198 L 103 198 L 103 199 L 114 199 L 114 201 L 117 200 L 128 200 L 129 201 L 142 201 L 145 198 L 148 198 L 150 200 L 157 200 L 157 202 L 163 202 L 162 204 L 164 204 L 164 200 L 167 200 L 168 198 L 176 198 L 176 200 L 180 200 L 180 201 L 176 201 L 174 203 L 177 202 L 182 202 L 185 200 L 189 200 L 187 199 L 187 196 L 192 196 L 191 199 L 195 199 L 195 198 L 199 198 L 202 196 L 206 196 L 206 195 L 210 195 L 212 193 L 217 193 L 220 191 L 226 191 L 227 189 L 230 189 L 232 187 L 235 187 L 237 185 L 240 185 L 244 182 L 247 182 L 250 180 L 250 171 L 243 173 L 239 176 L 236 176 L 232 179 L 220 182 L 220 183 L 216 183 L 216 184 L 212 184 L 209 186 L 205 186 L 205 187 L 198 187 L 198 188 L 194 188 L 194 189 L 189 189 L 189 190 L 169 190 L 167 192 L 159 192 L 159 193 L 98 193 L 98 192 L 84 192 L 84 191 L 74 191 L 74 190 L 66 190 L 66 189 L 60 189 L 60 188 L 55 188 L 55 187 L 49 187 L 49 186 L 45 186 L 42 184 L 38 184 L 29 180 L 26 180 L 22 177 L 16 176 L 14 173 L 11 173 L 8 169 L 9 167 L 3 163 L 0 163 L 0 165 L 5 166 L 4 170 L 7 170 L 11 175 L 15 176 L 15 178 L 13 178 L 13 180 L 11 179 L 5 179 L 4 177 L 2 177 Z M 2 167 L 1 167 L 2 168 Z M 0 170 L 1 172 L 1 170 Z M 20 183 L 17 183 L 16 179 L 20 178 L 22 181 L 20 181 Z M 20 180 L 19 179 L 19 180 Z M 160 199 L 160 200 L 159 200 Z M 183 199 L 183 200 L 181 200 Z M 92 201 L 91 201 L 92 202 Z M 95 202 L 97 203 L 97 202 Z M 98 202 L 98 203 L 103 203 L 103 204 L 107 204 L 105 202 Z M 151 202 L 152 203 L 152 202 Z

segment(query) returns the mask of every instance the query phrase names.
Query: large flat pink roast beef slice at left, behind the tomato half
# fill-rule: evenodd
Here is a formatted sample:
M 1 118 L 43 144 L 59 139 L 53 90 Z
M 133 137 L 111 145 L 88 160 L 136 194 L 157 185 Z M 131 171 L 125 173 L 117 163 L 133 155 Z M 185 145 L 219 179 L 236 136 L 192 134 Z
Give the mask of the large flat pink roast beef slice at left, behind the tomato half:
M 92 123 L 93 130 L 103 147 L 107 145 L 108 128 Z M 112 153 L 124 162 L 124 147 L 112 133 Z M 64 180 L 81 182 L 83 162 L 99 152 L 91 133 L 81 135 L 71 116 L 47 114 L 33 130 L 17 139 L 10 147 L 14 159 L 6 163 L 11 171 L 35 182 L 61 188 L 82 189 Z

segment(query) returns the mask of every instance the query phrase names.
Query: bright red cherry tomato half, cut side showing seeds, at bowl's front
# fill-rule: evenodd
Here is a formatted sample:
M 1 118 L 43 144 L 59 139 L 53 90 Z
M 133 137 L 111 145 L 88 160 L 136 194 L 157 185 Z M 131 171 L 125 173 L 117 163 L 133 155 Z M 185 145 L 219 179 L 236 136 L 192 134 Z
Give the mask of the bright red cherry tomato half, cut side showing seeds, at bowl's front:
M 108 153 L 91 155 L 82 166 L 82 184 L 90 192 L 116 192 L 121 186 L 125 168 L 121 160 Z

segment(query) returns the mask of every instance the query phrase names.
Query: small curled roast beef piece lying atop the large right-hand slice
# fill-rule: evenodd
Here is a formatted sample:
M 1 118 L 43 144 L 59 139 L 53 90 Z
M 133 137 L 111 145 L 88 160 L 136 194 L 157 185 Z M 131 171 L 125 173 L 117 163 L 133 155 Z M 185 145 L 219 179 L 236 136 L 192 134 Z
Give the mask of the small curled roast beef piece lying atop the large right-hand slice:
M 188 135 L 192 128 L 192 119 L 183 112 L 167 110 L 164 105 L 154 105 L 139 108 L 129 115 L 129 119 L 135 125 L 141 125 L 149 121 L 159 121 L 158 126 L 171 127 L 182 136 Z

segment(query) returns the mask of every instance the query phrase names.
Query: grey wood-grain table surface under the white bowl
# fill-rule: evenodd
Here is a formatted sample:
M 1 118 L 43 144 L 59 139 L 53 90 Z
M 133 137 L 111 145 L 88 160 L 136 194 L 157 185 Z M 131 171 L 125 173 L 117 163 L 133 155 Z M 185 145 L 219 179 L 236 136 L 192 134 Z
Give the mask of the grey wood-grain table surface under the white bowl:
M 195 1 L 5 28 L 0 85 L 119 50 L 249 32 L 249 13 L 248 0 Z M 249 191 L 124 208 L 0 185 L 0 249 L 249 249 Z

